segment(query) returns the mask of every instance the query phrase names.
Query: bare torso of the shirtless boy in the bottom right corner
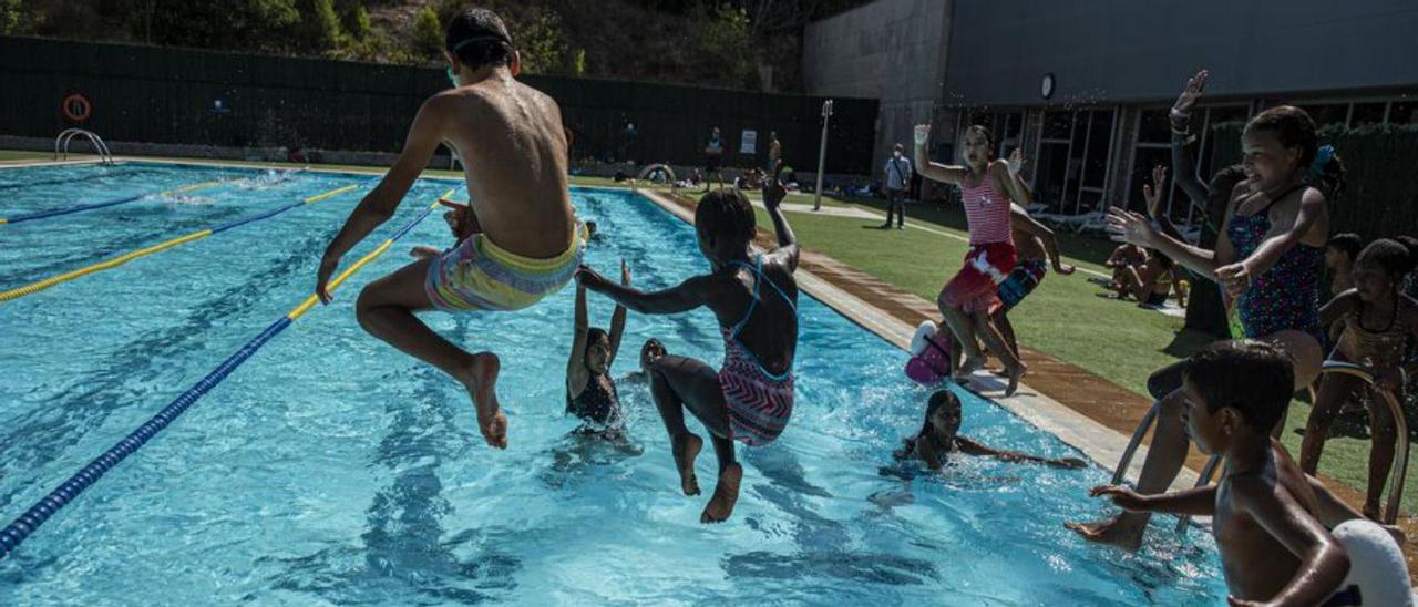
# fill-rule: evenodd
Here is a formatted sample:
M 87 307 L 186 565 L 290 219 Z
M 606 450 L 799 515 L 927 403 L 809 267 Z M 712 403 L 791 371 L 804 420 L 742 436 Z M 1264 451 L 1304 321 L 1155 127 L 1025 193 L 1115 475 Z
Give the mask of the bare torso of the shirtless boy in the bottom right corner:
M 1252 515 L 1285 516 L 1285 502 L 1297 503 L 1319 525 L 1314 491 L 1283 448 L 1271 444 L 1272 464 L 1261 471 L 1222 478 L 1217 486 L 1212 535 L 1221 550 L 1231 594 L 1263 600 L 1280 593 L 1300 567 L 1296 557 Z

